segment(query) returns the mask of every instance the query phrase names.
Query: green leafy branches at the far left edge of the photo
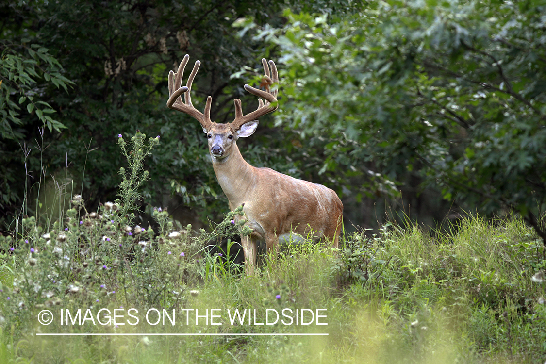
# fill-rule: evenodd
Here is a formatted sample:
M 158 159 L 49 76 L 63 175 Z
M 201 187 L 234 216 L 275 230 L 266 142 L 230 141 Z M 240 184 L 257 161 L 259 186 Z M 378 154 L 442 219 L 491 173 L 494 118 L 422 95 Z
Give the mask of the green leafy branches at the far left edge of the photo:
M 22 199 L 21 184 L 16 181 L 27 174 L 25 130 L 41 126 L 60 132 L 65 128 L 54 118 L 50 94 L 68 91 L 72 81 L 50 51 L 35 42 L 32 25 L 41 19 L 43 5 L 1 7 L 5 16 L 0 27 L 0 211 Z

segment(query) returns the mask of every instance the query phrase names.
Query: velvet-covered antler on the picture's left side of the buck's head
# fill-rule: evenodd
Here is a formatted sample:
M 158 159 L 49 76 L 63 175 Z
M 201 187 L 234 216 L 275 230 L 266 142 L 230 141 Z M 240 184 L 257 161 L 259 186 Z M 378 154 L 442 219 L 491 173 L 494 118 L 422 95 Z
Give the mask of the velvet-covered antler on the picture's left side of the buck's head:
M 212 123 L 210 121 L 210 106 L 212 104 L 212 98 L 209 96 L 206 100 L 205 114 L 202 114 L 199 110 L 195 109 L 191 98 L 192 83 L 197 71 L 199 70 L 199 65 L 201 64 L 200 61 L 195 61 L 192 73 L 189 75 L 188 81 L 186 82 L 186 86 L 180 87 L 182 84 L 184 69 L 186 68 L 188 60 L 189 56 L 184 56 L 176 73 L 173 71 L 169 72 L 169 100 L 167 100 L 167 106 L 170 109 L 182 111 L 183 113 L 194 117 L 197 121 L 199 121 L 201 127 L 206 129 Z M 182 102 L 182 94 L 185 94 L 185 103 Z

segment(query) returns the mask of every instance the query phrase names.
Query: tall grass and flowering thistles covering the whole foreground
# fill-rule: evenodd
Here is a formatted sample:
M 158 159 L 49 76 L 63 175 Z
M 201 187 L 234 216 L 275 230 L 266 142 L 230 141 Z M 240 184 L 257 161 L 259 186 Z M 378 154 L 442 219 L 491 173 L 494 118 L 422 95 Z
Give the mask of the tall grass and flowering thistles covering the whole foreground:
M 144 138 L 132 142 L 138 148 Z M 142 182 L 141 162 L 134 164 L 139 171 L 122 173 L 124 181 L 133 178 L 127 188 Z M 51 229 L 25 218 L 17 234 L 0 238 L 0 362 L 546 360 L 544 248 L 517 217 L 467 217 L 452 232 L 434 237 L 416 225 L 388 224 L 373 236 L 344 234 L 337 252 L 305 242 L 264 256 L 256 275 L 245 276 L 221 253 L 203 249 L 213 238 L 240 232 L 232 220 L 241 211 L 227 213 L 207 233 L 177 226 L 158 209 L 153 215 L 159 227 L 152 230 L 127 218 L 135 198 L 136 190 L 121 192 L 117 202 L 88 212 L 76 196 Z M 121 307 L 174 309 L 176 323 L 45 326 L 37 321 L 42 309 L 88 308 L 97 314 Z M 204 318 L 196 323 L 195 315 L 186 321 L 192 312 L 187 309 L 203 315 L 212 308 L 219 309 L 215 320 L 221 325 Z M 257 323 L 266 322 L 266 309 L 327 309 L 322 321 L 328 325 L 232 324 L 227 310 L 236 308 L 256 309 Z M 144 335 L 62 341 L 36 335 L 48 332 Z M 154 335 L 165 333 L 228 335 Z M 287 335 L 294 333 L 328 336 Z

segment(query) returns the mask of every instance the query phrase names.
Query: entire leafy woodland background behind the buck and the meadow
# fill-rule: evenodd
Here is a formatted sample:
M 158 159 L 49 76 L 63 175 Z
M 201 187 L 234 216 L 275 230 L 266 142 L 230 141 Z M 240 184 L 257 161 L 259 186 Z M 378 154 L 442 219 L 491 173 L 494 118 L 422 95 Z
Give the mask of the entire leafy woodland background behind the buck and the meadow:
M 201 61 L 194 104 L 211 95 L 217 122 L 232 120 L 234 98 L 256 108 L 242 86 L 259 84 L 262 57 L 275 60 L 280 107 L 239 141 L 242 154 L 336 190 L 346 226 L 517 213 L 546 241 L 545 10 L 492 0 L 2 2 L 0 229 L 55 213 L 59 196 L 81 193 L 90 211 L 114 200 L 126 163 L 118 134 L 136 129 L 161 136 L 141 220 L 155 206 L 194 226 L 221 218 L 228 204 L 205 135 L 165 106 L 168 72 L 187 53 L 190 66 Z M 37 185 L 48 193 L 35 205 Z

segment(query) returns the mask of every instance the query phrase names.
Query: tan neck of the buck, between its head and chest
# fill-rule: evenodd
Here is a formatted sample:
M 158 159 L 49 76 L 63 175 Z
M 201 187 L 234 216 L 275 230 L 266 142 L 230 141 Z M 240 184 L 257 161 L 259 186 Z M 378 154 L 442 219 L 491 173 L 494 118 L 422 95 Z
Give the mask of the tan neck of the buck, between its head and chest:
M 229 207 L 235 208 L 245 202 L 245 196 L 254 183 L 254 167 L 246 162 L 236 144 L 228 157 L 212 157 L 212 168 L 218 183 L 229 200 Z

